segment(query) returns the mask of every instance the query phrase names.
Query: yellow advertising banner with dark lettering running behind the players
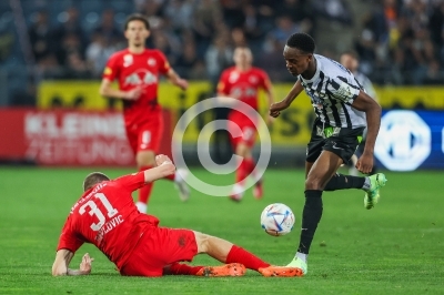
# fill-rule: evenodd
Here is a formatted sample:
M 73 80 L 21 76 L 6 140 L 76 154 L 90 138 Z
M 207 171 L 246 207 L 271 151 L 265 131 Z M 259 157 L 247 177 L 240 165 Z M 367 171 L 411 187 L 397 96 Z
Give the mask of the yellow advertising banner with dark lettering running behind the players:
M 99 81 L 46 81 L 40 84 L 38 106 L 41 110 L 53 108 L 80 110 L 120 110 L 119 100 L 100 96 Z M 273 85 L 274 96 L 283 99 L 292 83 Z M 384 109 L 444 109 L 444 88 L 377 88 L 380 103 Z M 195 103 L 213 95 L 212 85 L 206 81 L 190 83 L 186 91 L 163 82 L 159 87 L 159 101 L 172 112 L 175 122 Z M 260 94 L 260 112 L 266 113 L 264 93 Z M 205 111 L 191 121 L 184 133 L 184 141 L 195 143 L 204 125 L 213 121 L 213 111 Z M 289 110 L 282 112 L 269 128 L 272 143 L 276 145 L 305 145 L 310 140 L 314 112 L 310 99 L 302 93 Z M 174 125 L 175 125 L 174 122 Z M 260 132 L 266 132 L 261 126 Z

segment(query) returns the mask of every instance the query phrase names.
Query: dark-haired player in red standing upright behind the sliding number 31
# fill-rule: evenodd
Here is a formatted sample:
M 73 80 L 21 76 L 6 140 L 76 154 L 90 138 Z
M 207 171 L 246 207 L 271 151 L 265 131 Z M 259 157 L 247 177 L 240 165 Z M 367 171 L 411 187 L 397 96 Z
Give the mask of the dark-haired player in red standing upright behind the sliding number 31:
M 115 52 L 103 71 L 100 94 L 123 100 L 123 115 L 127 136 L 135 154 L 139 171 L 154 165 L 161 136 L 163 135 L 162 109 L 158 103 L 159 75 L 163 74 L 174 85 L 185 90 L 188 82 L 181 79 L 170 67 L 165 55 L 159 50 L 145 48 L 150 35 L 150 24 L 141 14 L 131 14 L 124 26 L 128 49 Z M 117 79 L 119 90 L 111 87 Z M 188 200 L 189 189 L 184 182 L 185 171 L 169 175 L 179 189 L 182 201 Z M 139 191 L 137 206 L 147 212 L 147 203 L 152 185 Z

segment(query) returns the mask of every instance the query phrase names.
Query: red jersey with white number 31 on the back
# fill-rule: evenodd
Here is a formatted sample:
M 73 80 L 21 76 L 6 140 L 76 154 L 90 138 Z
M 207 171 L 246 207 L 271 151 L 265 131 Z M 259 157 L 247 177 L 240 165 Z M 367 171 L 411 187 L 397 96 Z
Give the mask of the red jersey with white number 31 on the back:
M 131 193 L 143 185 L 144 174 L 139 172 L 84 192 L 71 208 L 57 250 L 75 253 L 83 243 L 91 243 L 121 268 L 147 226 L 159 223 L 134 205 Z

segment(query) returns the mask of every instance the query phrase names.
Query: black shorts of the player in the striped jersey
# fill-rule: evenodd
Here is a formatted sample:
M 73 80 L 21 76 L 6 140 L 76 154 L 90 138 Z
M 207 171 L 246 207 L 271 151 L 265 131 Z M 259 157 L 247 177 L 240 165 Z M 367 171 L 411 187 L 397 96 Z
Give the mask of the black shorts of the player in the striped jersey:
M 364 129 L 323 125 L 316 119 L 313 124 L 310 142 L 306 145 L 305 161 L 314 163 L 322 151 L 329 151 L 341 157 L 344 163 L 347 163 L 362 141 Z

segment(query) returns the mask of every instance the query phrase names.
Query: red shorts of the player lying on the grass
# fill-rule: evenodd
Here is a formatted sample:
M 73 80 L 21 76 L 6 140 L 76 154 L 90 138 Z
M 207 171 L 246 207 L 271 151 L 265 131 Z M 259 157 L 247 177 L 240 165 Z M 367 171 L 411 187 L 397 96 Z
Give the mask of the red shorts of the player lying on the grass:
M 163 267 L 175 262 L 191 262 L 196 254 L 193 231 L 150 226 L 120 273 L 127 276 L 162 276 Z

